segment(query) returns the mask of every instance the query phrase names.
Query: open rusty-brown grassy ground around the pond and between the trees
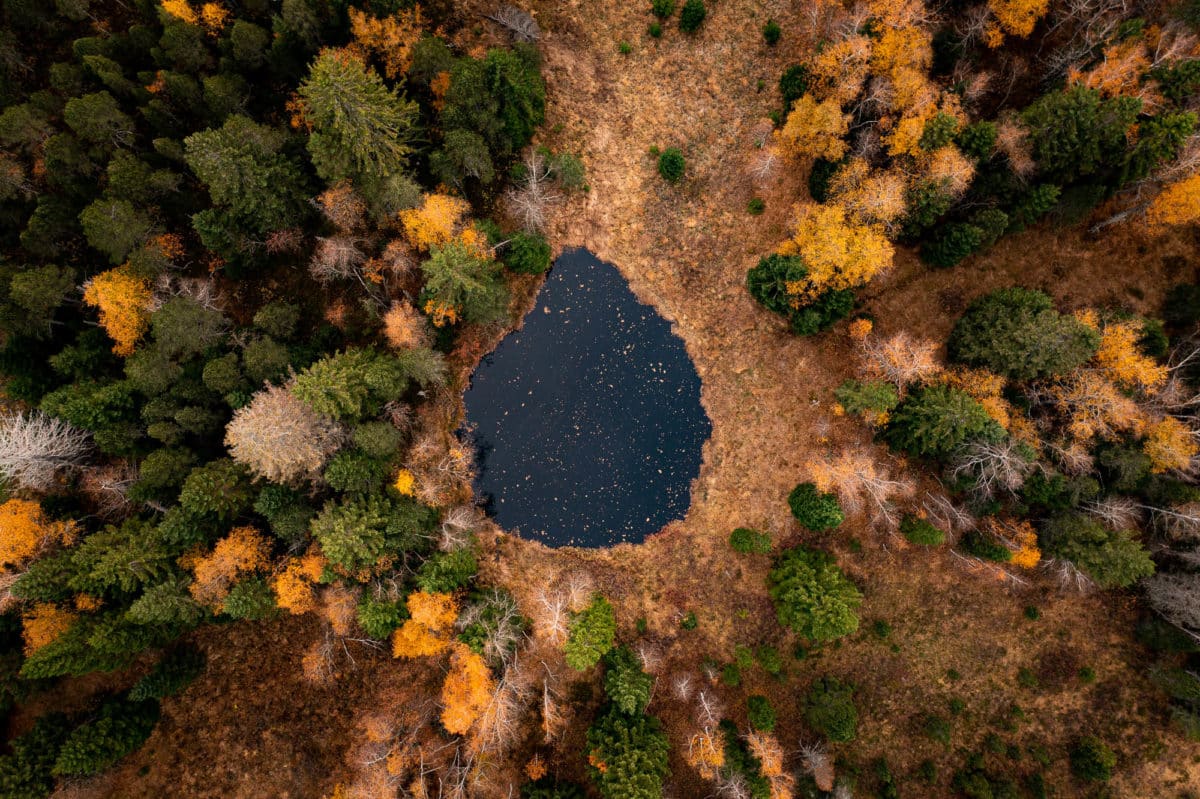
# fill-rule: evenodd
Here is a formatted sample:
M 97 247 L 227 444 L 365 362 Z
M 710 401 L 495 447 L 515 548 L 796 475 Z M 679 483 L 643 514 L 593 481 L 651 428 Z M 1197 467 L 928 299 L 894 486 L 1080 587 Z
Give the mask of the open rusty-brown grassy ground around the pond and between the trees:
M 1044 745 L 1058 797 L 1085 793 L 1067 771 L 1066 751 L 1086 733 L 1100 734 L 1118 753 L 1114 797 L 1176 797 L 1200 786 L 1194 745 L 1170 731 L 1144 677 L 1147 654 L 1133 638 L 1130 597 L 1063 594 L 1037 575 L 1024 588 L 1000 584 L 946 552 L 899 546 L 863 518 L 828 536 L 802 534 L 791 519 L 786 495 L 806 477 L 805 462 L 824 451 L 864 446 L 894 471 L 906 468 L 872 445 L 865 428 L 832 411 L 832 391 L 853 376 L 857 360 L 844 326 L 792 336 L 744 288 L 746 270 L 785 238 L 791 205 L 806 191 L 803 164 L 784 164 L 774 182 L 757 188 L 748 174 L 779 102 L 775 82 L 810 47 L 800 35 L 806 28 L 799 4 L 720 0 L 709 4 L 697 35 L 682 34 L 672 19 L 655 41 L 646 34 L 648 5 L 534 2 L 548 83 L 541 142 L 582 154 L 589 182 L 586 194 L 556 210 L 548 233 L 558 248 L 586 246 L 614 264 L 638 298 L 672 320 L 702 378 L 713 435 L 682 521 L 642 545 L 596 551 L 491 536 L 486 578 L 529 607 L 539 587 L 587 573 L 616 605 L 623 637 L 636 637 L 636 620 L 646 619 L 643 638 L 662 655 L 650 710 L 671 734 L 673 797 L 702 797 L 710 787 L 679 755 L 691 728 L 668 681 L 680 673 L 700 678 L 703 659 L 728 662 L 738 644 L 775 645 L 786 663 L 785 680 L 751 669 L 742 687 L 715 686 L 739 726 L 743 695 L 764 693 L 779 711 L 780 741 L 794 751 L 809 683 L 822 674 L 848 679 L 857 685 L 859 738 L 839 753 L 864 773 L 872 758 L 887 756 L 901 780 L 926 758 L 940 762 L 938 783 L 913 783 L 911 795 L 950 795 L 949 775 L 961 763 L 953 752 L 978 750 L 990 733 L 1022 749 Z M 776 48 L 760 32 L 768 18 L 785 31 Z M 632 46 L 629 55 L 619 54 L 622 41 Z M 658 176 L 652 146 L 684 151 L 688 174 L 679 185 Z M 745 210 L 755 196 L 766 200 L 761 216 Z M 1067 307 L 1152 313 L 1168 286 L 1195 280 L 1195 246 L 1182 236 L 1151 241 L 1110 228 L 1090 238 L 1045 224 L 952 270 L 931 271 L 901 250 L 892 272 L 862 293 L 862 310 L 883 334 L 905 330 L 935 341 L 973 296 L 1014 283 L 1043 288 Z M 794 641 L 774 621 L 766 593 L 768 558 L 734 555 L 727 540 L 736 527 L 767 530 L 776 545 L 812 539 L 836 553 L 865 595 L 862 631 L 804 660 L 792 657 Z M 1040 618 L 1026 618 L 1027 606 L 1037 606 Z M 698 618 L 695 630 L 679 626 L 688 612 Z M 890 625 L 887 637 L 872 632 L 876 621 Z M 298 662 L 314 635 L 317 625 L 305 619 L 206 629 L 199 641 L 208 673 L 164 703 L 164 721 L 145 747 L 113 774 L 62 795 L 330 793 L 353 765 L 354 719 L 380 697 L 396 702 L 436 675 L 412 661 L 364 654 L 356 671 L 314 689 Z M 1094 669 L 1094 684 L 1076 679 L 1084 666 Z M 1019 684 L 1021 668 L 1037 674 L 1038 687 Z M 925 713 L 946 714 L 952 699 L 965 710 L 946 749 L 919 728 Z M 564 740 L 577 743 L 587 722 L 577 719 Z M 581 762 L 578 747 L 564 744 L 562 773 L 582 776 Z M 1030 758 L 1013 768 L 1030 770 Z

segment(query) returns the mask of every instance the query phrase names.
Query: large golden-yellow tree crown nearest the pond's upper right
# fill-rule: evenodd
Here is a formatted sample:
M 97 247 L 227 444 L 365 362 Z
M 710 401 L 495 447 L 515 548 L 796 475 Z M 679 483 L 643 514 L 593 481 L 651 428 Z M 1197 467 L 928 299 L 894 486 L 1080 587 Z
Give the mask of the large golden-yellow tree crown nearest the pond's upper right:
M 862 286 L 892 266 L 892 244 L 877 227 L 857 224 L 836 205 L 798 205 L 792 238 L 781 256 L 799 256 L 809 270 L 797 294 L 812 299 L 827 289 Z

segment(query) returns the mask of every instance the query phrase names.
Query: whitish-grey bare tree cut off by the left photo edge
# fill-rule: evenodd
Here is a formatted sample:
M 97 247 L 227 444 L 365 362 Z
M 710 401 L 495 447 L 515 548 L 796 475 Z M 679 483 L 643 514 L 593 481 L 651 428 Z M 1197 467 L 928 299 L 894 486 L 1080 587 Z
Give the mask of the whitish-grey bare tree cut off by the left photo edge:
M 28 491 L 48 491 L 88 457 L 88 433 L 35 410 L 0 417 L 0 479 Z

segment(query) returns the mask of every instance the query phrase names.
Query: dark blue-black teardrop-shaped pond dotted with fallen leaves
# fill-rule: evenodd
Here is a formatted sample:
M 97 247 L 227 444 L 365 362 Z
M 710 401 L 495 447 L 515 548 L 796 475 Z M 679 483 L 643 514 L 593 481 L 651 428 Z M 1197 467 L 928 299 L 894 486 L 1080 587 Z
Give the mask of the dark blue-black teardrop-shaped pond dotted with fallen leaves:
M 682 518 L 712 432 L 683 341 L 587 250 L 554 262 L 466 402 L 487 511 L 553 546 L 641 541 Z

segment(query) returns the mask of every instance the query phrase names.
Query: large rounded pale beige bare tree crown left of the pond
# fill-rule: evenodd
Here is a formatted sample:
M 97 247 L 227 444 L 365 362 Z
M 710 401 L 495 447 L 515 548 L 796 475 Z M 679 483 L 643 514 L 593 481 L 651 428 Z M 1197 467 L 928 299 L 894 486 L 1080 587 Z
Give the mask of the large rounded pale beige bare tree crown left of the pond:
M 343 438 L 336 421 L 276 385 L 256 394 L 226 428 L 229 455 L 272 482 L 316 476 Z

